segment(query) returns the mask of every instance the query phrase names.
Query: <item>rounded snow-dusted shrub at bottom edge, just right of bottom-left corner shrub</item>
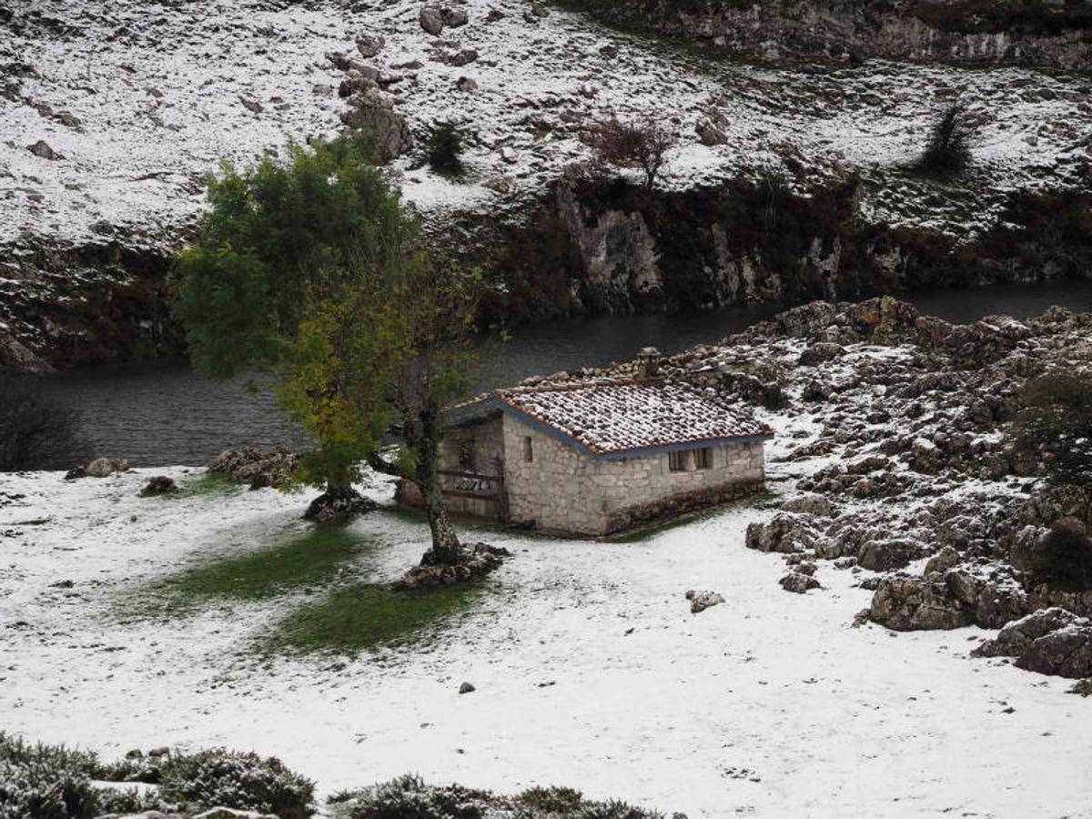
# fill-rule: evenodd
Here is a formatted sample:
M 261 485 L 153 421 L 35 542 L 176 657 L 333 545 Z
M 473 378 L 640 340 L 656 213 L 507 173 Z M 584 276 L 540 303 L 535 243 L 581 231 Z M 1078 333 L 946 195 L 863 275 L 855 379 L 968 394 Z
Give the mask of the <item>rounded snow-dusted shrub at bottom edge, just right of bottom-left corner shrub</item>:
M 170 757 L 161 768 L 159 794 L 193 810 L 223 806 L 306 819 L 314 783 L 274 757 L 215 748 Z

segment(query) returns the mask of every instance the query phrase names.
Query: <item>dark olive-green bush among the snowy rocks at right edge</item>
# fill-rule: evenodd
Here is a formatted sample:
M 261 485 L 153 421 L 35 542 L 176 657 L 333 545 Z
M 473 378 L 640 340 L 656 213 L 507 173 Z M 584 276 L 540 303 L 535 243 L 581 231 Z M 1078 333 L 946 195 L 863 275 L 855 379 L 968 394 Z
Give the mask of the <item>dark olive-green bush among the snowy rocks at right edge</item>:
M 1053 372 L 1028 383 L 1017 416 L 1018 442 L 1047 454 L 1053 484 L 1083 498 L 1092 520 L 1092 373 Z

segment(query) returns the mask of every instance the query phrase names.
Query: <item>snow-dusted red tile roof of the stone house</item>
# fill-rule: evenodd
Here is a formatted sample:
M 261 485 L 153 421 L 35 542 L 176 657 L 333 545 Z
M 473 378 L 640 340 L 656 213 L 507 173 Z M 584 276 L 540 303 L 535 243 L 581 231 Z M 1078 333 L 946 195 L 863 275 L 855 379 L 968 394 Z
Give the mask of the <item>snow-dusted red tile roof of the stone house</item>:
M 546 425 L 594 455 L 773 435 L 726 399 L 662 380 L 502 390 L 487 402 Z

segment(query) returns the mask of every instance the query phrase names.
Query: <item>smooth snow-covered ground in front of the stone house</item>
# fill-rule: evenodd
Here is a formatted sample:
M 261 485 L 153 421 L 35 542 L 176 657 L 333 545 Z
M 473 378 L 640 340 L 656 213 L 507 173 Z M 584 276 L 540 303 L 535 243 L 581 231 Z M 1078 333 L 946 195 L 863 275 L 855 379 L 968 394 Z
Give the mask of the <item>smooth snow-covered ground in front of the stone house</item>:
M 775 487 L 791 468 L 772 465 Z M 0 476 L 4 729 L 108 756 L 256 749 L 324 793 L 417 771 L 691 817 L 1092 816 L 1089 703 L 1067 680 L 968 658 L 978 629 L 853 628 L 870 595 L 829 563 L 823 590 L 782 591 L 781 558 L 744 547 L 772 512 L 736 507 L 639 543 L 490 533 L 514 557 L 428 651 L 265 664 L 248 641 L 297 597 L 169 625 L 127 601 L 189 560 L 301 531 L 307 496 L 141 499 L 150 474 Z M 354 525 L 382 544 L 377 579 L 426 535 L 389 512 Z M 693 616 L 688 589 L 726 603 Z M 477 690 L 460 696 L 463 680 Z

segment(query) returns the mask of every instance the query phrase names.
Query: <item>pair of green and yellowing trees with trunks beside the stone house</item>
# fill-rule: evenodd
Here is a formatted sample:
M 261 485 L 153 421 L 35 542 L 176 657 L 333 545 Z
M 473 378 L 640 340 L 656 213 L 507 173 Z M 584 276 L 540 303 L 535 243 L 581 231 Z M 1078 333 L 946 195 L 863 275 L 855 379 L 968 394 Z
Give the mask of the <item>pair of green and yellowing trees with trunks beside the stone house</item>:
M 465 388 L 485 285 L 434 264 L 416 219 L 367 143 L 293 147 L 287 162 L 210 180 L 212 209 L 178 263 L 176 310 L 194 365 L 229 377 L 273 372 L 278 401 L 309 430 L 299 479 L 347 501 L 360 463 L 414 480 L 430 560 L 460 544 L 437 473 L 442 411 Z M 390 425 L 403 446 L 382 454 Z

